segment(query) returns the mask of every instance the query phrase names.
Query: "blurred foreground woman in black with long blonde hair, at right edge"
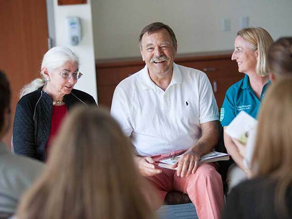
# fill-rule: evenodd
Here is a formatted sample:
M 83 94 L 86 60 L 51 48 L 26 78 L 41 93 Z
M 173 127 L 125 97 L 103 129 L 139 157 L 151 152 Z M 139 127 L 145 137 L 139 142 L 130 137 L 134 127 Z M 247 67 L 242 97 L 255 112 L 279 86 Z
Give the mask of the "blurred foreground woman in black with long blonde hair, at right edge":
M 292 218 L 292 78 L 269 88 L 258 117 L 253 180 L 236 186 L 223 219 Z

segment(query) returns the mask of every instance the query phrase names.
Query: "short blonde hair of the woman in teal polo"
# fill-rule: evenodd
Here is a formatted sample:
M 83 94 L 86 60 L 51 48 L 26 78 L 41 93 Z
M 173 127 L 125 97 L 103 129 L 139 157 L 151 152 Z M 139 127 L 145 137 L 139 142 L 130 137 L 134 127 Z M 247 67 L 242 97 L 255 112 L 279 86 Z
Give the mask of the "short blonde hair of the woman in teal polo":
M 249 27 L 238 31 L 237 36 L 240 36 L 247 41 L 252 50 L 257 50 L 258 58 L 256 62 L 256 73 L 259 76 L 268 75 L 268 51 L 270 46 L 274 43 L 271 35 L 261 27 Z

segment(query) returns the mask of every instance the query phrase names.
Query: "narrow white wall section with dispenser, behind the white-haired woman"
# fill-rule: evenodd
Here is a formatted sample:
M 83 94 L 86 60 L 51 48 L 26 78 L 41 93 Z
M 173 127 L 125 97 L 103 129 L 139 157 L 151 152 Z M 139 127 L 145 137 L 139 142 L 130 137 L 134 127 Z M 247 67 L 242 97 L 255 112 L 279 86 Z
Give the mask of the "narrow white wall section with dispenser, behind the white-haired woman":
M 80 58 L 79 70 L 83 76 L 75 85 L 76 89 L 90 93 L 97 100 L 95 57 L 92 34 L 91 0 L 87 4 L 58 5 L 54 1 L 55 45 L 66 46 Z M 77 16 L 81 19 L 82 40 L 71 46 L 67 40 L 66 17 Z

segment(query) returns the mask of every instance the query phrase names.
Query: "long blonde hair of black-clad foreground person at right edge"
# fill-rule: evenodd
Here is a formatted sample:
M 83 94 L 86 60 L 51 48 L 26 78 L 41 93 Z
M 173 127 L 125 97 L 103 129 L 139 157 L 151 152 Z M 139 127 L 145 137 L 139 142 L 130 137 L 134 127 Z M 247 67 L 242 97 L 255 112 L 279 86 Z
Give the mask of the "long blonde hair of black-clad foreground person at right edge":
M 252 161 L 256 176 L 275 180 L 275 204 L 287 212 L 285 193 L 292 185 L 292 79 L 277 79 L 262 103 Z

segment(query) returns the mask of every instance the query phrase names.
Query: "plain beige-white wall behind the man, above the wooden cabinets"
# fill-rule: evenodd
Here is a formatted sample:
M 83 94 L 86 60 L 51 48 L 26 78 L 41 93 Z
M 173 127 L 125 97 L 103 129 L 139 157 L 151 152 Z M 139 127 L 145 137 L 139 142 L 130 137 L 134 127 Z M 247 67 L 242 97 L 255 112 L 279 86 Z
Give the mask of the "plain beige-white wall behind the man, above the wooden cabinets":
M 292 0 L 92 0 L 97 59 L 139 56 L 138 36 L 162 21 L 178 39 L 178 53 L 232 50 L 240 18 L 265 28 L 274 39 L 292 36 Z M 222 18 L 231 31 L 221 30 Z

